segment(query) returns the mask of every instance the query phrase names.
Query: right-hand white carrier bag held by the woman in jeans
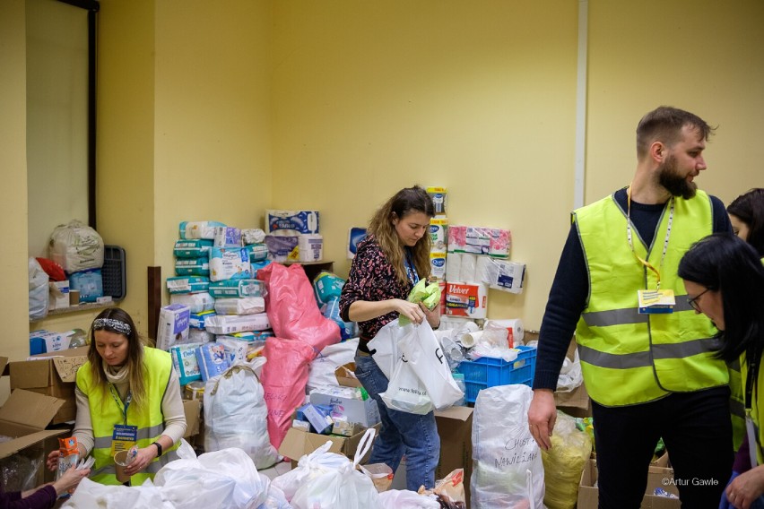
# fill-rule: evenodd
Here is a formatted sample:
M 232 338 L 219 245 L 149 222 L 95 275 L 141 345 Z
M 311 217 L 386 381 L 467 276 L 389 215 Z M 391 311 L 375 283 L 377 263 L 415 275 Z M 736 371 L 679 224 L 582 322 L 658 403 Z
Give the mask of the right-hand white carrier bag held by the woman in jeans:
M 443 349 L 427 321 L 405 325 L 398 348 L 404 353 L 409 367 L 419 376 L 432 406 L 437 410 L 447 409 L 464 398 L 464 392 L 451 375 Z

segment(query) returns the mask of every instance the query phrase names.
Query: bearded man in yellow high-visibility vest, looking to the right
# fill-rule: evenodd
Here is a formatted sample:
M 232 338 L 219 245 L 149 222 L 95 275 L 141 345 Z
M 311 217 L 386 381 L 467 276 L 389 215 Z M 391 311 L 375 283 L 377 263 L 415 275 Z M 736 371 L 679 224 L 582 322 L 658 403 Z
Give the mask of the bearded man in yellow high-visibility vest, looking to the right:
M 716 329 L 696 315 L 677 267 L 702 237 L 732 231 L 724 204 L 693 182 L 710 127 L 660 107 L 637 127 L 628 187 L 572 214 L 543 316 L 528 410 L 551 447 L 557 386 L 576 332 L 592 399 L 599 507 L 638 508 L 663 437 L 684 507 L 716 507 L 733 461 L 725 363 Z

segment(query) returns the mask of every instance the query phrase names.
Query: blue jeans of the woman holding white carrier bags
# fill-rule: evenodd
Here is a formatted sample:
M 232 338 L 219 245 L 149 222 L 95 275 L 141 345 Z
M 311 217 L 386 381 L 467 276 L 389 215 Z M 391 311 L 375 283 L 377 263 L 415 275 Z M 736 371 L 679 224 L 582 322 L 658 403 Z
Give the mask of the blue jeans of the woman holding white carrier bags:
M 406 489 L 435 487 L 435 468 L 440 458 L 440 437 L 435 414 L 416 415 L 390 410 L 379 397 L 387 390 L 387 377 L 369 356 L 357 355 L 355 375 L 369 396 L 377 401 L 382 429 L 374 441 L 369 463 L 385 463 L 395 470 L 406 455 Z

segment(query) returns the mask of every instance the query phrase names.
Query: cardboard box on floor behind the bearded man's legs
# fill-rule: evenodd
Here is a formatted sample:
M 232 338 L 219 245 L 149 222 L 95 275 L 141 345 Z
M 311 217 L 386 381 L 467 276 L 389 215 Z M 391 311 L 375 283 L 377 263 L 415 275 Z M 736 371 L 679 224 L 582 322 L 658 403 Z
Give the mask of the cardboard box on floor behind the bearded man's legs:
M 647 490 L 642 498 L 640 509 L 680 509 L 682 504 L 678 498 L 652 495 L 656 487 L 661 487 L 669 493 L 679 496 L 679 490 L 673 483 L 673 470 L 662 467 L 648 467 Z M 578 485 L 578 509 L 597 509 L 599 491 L 595 487 L 597 481 L 597 463 L 589 460 L 581 473 Z

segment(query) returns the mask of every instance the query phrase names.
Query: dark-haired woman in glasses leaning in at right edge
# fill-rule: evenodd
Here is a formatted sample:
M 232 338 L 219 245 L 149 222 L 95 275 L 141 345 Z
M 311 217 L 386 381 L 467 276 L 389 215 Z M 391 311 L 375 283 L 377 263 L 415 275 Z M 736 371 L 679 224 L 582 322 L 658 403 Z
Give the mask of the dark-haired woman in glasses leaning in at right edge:
M 764 266 L 756 249 L 741 238 L 715 234 L 682 257 L 679 276 L 690 306 L 719 330 L 719 357 L 740 359 L 742 368 L 746 436 L 719 507 L 764 508 Z

